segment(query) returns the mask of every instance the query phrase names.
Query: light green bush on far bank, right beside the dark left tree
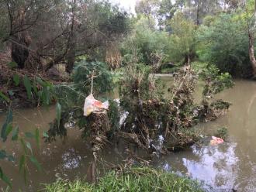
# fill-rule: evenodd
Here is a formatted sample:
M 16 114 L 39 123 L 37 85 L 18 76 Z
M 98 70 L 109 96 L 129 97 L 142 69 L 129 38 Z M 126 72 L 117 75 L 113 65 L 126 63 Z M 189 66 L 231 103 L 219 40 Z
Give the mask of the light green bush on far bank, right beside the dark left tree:
M 150 29 L 147 19 L 140 17 L 133 32 L 123 42 L 123 63 L 153 65 L 158 61 L 168 62 L 168 42 L 168 33 Z

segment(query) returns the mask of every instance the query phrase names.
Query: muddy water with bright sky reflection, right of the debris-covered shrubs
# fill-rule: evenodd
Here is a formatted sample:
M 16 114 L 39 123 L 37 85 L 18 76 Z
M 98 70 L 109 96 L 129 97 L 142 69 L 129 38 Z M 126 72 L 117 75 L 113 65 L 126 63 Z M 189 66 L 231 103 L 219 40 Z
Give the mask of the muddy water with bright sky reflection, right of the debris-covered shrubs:
M 227 126 L 228 142 L 219 146 L 192 146 L 191 149 L 164 157 L 171 170 L 203 180 L 213 191 L 256 191 L 256 83 L 237 81 L 233 89 L 218 96 L 233 105 L 227 115 L 214 122 L 199 125 L 213 135 Z

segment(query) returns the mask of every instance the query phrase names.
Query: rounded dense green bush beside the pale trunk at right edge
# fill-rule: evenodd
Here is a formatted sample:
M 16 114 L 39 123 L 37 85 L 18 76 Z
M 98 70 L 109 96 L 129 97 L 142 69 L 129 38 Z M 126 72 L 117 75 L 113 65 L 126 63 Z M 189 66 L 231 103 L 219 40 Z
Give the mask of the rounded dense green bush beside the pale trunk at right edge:
M 199 60 L 216 64 L 221 72 L 248 77 L 251 75 L 251 63 L 246 26 L 235 16 L 208 17 L 206 25 L 199 28 L 197 53 Z

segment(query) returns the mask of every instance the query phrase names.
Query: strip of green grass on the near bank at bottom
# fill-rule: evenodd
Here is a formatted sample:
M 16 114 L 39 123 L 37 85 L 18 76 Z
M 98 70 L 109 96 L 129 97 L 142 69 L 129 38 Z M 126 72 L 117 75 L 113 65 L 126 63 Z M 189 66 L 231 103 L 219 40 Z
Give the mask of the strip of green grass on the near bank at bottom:
M 123 173 L 111 171 L 99 180 L 99 183 L 89 184 L 83 180 L 73 182 L 57 181 L 47 184 L 46 192 L 94 192 L 94 191 L 171 191 L 171 192 L 201 192 L 199 183 L 187 177 L 179 177 L 174 173 L 154 170 L 149 167 L 133 167 Z

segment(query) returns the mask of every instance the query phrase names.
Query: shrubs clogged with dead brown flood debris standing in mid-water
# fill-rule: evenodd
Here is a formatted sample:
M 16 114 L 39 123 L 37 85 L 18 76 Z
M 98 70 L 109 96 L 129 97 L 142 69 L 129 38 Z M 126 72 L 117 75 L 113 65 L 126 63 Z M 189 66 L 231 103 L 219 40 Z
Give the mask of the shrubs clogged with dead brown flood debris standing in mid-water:
M 193 125 L 213 120 L 229 108 L 225 101 L 210 101 L 206 97 L 201 104 L 194 103 L 193 93 L 199 75 L 190 65 L 175 74 L 174 84 L 168 88 L 150 77 L 150 71 L 150 67 L 142 65 L 127 67 L 119 91 L 121 107 L 128 115 L 118 135 L 143 149 L 156 151 L 159 147 L 154 141 L 159 135 L 164 140 L 161 153 L 164 149 L 192 145 L 199 139 L 199 132 L 192 128 Z M 209 84 L 206 85 L 211 92 Z M 168 94 L 164 94 L 166 89 Z

